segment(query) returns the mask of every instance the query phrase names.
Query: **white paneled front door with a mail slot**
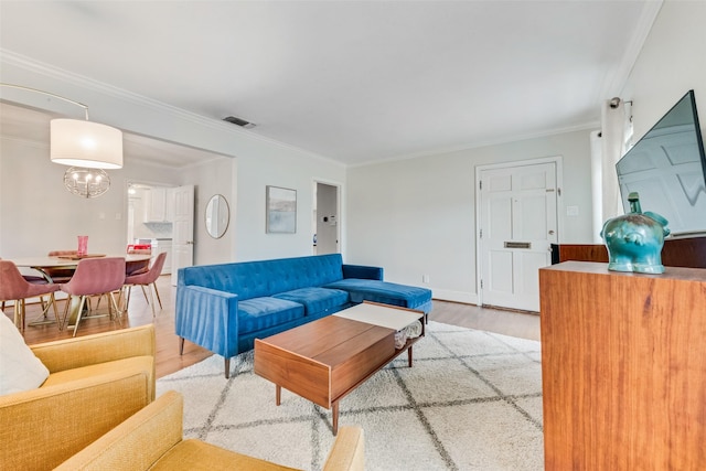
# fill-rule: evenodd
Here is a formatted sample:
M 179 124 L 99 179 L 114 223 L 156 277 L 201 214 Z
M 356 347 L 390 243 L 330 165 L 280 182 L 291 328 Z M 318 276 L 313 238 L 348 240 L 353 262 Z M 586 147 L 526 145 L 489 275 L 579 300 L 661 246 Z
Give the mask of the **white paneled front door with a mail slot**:
M 539 311 L 539 268 L 557 240 L 556 163 L 481 170 L 480 302 Z

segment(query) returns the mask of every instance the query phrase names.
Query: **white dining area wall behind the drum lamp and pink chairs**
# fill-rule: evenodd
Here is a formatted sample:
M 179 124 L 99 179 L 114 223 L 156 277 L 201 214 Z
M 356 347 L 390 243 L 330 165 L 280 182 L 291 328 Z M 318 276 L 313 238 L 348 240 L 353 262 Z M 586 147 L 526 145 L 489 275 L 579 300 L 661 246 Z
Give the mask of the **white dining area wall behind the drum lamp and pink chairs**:
M 65 165 L 52 163 L 43 142 L 0 138 L 0 257 L 46 255 L 75 249 L 76 236 L 88 236 L 88 250 L 122 254 L 127 238 L 127 181 L 179 184 L 171 169 L 126 159 L 109 171 L 110 190 L 97 199 L 82 199 L 64 189 Z

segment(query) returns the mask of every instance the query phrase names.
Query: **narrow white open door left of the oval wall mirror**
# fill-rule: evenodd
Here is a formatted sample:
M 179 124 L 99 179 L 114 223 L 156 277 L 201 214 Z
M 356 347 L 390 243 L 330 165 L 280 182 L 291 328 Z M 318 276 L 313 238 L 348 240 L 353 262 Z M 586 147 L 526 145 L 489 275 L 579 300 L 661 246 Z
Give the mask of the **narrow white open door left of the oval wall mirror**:
M 194 185 L 173 191 L 172 218 L 172 286 L 176 286 L 179 269 L 194 264 Z

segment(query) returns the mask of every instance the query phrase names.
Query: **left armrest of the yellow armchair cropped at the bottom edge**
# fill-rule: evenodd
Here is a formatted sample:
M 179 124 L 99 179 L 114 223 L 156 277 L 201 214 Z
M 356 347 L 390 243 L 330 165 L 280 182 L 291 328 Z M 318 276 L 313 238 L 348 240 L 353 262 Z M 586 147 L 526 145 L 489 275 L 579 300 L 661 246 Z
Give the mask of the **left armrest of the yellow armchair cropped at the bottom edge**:
M 182 440 L 183 398 L 168 390 L 57 470 L 147 470 Z

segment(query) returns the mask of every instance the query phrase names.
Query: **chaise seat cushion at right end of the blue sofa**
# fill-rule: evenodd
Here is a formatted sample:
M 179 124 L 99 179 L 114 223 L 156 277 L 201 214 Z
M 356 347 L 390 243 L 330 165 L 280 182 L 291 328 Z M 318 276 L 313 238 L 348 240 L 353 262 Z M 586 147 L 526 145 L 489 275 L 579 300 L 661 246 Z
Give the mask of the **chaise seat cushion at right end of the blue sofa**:
M 373 301 L 402 308 L 417 309 L 431 301 L 431 290 L 387 281 L 346 278 L 323 288 L 347 291 L 352 302 Z

